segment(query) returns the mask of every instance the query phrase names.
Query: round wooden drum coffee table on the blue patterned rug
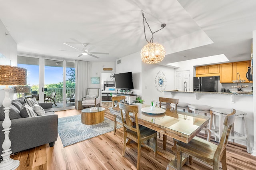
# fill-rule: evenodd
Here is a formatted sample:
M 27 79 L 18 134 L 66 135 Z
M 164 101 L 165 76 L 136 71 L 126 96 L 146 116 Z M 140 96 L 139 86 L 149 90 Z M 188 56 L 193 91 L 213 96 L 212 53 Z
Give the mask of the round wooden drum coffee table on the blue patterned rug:
M 81 122 L 85 125 L 94 125 L 104 121 L 105 108 L 96 107 L 97 110 L 91 111 L 90 108 L 82 110 L 81 113 Z

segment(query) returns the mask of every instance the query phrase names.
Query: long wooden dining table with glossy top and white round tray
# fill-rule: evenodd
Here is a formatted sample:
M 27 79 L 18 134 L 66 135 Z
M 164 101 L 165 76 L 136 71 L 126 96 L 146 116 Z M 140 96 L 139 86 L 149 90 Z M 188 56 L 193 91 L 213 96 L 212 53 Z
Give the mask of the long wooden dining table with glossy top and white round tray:
M 174 139 L 172 152 L 175 159 L 170 158 L 171 161 L 166 168 L 167 170 L 176 168 L 176 143 L 178 141 L 190 142 L 210 121 L 210 117 L 204 115 L 159 107 L 150 108 L 150 105 L 141 103 L 134 103 L 133 105 L 138 106 L 139 125 L 151 128 Z M 121 118 L 119 108 L 110 107 L 109 110 L 111 114 Z M 130 113 L 130 116 L 133 117 L 134 115 Z M 158 153 L 160 152 L 158 151 Z M 186 156 L 182 156 L 182 165 L 187 160 Z

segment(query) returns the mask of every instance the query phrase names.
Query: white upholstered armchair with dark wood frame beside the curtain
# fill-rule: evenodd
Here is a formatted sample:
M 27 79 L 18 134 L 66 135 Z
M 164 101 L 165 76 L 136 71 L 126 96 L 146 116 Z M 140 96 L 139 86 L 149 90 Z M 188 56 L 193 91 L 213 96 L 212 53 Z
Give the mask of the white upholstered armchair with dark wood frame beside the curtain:
M 82 98 L 82 108 L 100 106 L 100 89 L 88 88 L 86 91 L 86 97 Z

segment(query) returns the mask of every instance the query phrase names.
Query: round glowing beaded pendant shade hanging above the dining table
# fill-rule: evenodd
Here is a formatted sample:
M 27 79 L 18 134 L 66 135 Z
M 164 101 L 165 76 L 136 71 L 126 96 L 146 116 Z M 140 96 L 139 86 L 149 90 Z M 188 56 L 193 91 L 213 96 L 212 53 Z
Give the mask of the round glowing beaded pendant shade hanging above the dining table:
M 164 47 L 159 43 L 148 43 L 140 51 L 142 61 L 147 64 L 159 63 L 164 56 Z

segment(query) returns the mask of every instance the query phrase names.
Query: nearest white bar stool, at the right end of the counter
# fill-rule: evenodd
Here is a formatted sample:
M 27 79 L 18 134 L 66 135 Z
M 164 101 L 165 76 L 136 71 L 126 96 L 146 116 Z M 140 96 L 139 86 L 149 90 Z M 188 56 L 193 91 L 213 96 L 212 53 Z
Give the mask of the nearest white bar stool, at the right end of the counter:
M 211 133 L 213 133 L 214 136 L 215 136 L 215 141 L 220 142 L 219 138 L 222 135 L 223 117 L 225 115 L 230 114 L 230 113 L 232 113 L 232 109 L 217 109 L 217 108 L 211 109 L 211 111 L 210 111 L 211 120 L 210 120 L 208 137 L 207 137 L 208 141 L 210 141 Z M 212 128 L 212 120 L 214 120 L 214 121 L 216 120 L 215 119 L 216 115 L 219 116 L 219 127 L 218 128 L 217 127 Z M 234 130 L 234 124 L 233 124 L 232 129 L 230 131 L 231 134 L 230 134 L 229 138 L 232 139 L 233 143 L 234 143 L 235 139 L 246 140 L 247 152 L 251 154 L 252 153 L 252 148 L 251 148 L 250 139 L 249 139 L 249 136 L 248 136 L 246 115 L 247 115 L 247 113 L 236 110 L 236 119 L 242 118 L 242 123 L 243 123 L 243 127 L 244 127 L 244 135 L 240 134 L 239 132 L 236 132 Z M 216 125 L 216 123 L 215 123 L 215 125 Z M 237 134 L 238 136 L 235 136 L 234 134 Z M 218 139 L 216 140 L 216 138 L 218 138 Z

